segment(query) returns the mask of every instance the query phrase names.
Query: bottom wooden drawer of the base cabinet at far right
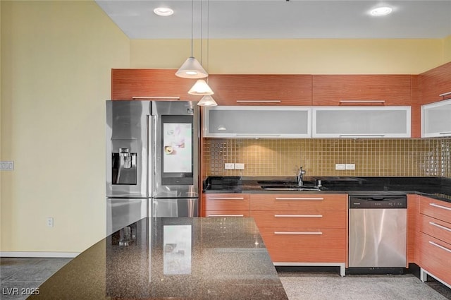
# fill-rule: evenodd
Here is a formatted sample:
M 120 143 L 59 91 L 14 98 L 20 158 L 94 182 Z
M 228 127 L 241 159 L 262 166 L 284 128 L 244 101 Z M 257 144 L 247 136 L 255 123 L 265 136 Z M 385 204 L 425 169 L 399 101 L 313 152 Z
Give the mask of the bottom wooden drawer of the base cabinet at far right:
M 419 246 L 421 268 L 451 284 L 451 244 L 420 233 Z

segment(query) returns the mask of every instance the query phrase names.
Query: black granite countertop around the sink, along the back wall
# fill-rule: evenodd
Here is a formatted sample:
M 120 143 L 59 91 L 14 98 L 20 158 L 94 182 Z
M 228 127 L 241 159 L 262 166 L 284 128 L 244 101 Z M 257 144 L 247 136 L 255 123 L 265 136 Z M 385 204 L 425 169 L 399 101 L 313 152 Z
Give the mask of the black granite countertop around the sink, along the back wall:
M 204 193 L 348 193 L 397 194 L 418 193 L 451 202 L 451 179 L 445 177 L 368 177 L 368 176 L 316 176 L 304 177 L 306 185 L 321 180 L 321 191 L 267 191 L 264 181 L 292 181 L 295 177 L 270 176 L 209 176 L 204 180 Z

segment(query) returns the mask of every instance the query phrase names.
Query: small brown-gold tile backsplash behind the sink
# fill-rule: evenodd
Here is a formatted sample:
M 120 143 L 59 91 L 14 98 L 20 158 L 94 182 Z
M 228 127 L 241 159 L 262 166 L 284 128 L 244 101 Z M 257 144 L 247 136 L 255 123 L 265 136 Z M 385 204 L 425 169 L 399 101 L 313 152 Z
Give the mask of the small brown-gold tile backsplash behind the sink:
M 204 176 L 295 176 L 302 165 L 306 176 L 451 177 L 451 138 L 204 138 L 203 147 Z M 225 169 L 226 163 L 245 169 Z

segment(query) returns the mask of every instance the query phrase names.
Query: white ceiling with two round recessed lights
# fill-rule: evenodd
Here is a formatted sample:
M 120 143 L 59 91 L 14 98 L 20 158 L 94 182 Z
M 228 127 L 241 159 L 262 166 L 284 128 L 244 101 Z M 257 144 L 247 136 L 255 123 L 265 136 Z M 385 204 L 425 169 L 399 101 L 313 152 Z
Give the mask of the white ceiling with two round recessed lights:
M 435 39 L 451 35 L 451 0 L 194 0 L 193 17 L 191 0 L 96 2 L 130 39 L 199 38 L 201 9 L 202 38 L 210 39 Z M 382 4 L 391 6 L 393 13 L 369 16 L 371 8 Z M 156 16 L 157 6 L 170 7 L 175 13 Z

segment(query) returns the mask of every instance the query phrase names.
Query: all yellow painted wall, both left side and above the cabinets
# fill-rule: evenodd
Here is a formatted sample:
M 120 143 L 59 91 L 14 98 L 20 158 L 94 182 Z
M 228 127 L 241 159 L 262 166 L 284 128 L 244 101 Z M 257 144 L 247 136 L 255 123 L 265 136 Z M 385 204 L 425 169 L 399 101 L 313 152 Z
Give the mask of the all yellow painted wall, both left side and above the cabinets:
M 15 162 L 1 172 L 0 251 L 82 251 L 105 232 L 111 68 L 178 68 L 190 40 L 130 41 L 94 1 L 2 0 L 0 13 L 0 158 Z M 208 64 L 203 45 L 210 73 L 421 73 L 451 61 L 451 37 L 211 40 Z

